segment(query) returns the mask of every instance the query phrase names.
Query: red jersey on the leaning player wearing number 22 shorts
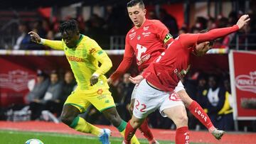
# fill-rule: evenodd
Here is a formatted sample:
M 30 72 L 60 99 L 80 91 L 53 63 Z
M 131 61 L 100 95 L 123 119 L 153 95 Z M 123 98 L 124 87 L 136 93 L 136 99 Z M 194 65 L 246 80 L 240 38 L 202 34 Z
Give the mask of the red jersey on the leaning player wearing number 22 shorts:
M 188 72 L 190 53 L 197 43 L 214 40 L 238 30 L 238 26 L 235 25 L 213 29 L 208 33 L 181 34 L 144 70 L 142 76 L 160 90 L 172 92 Z

